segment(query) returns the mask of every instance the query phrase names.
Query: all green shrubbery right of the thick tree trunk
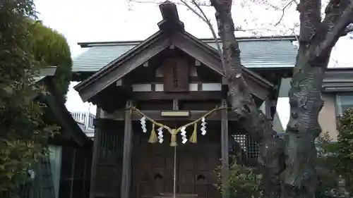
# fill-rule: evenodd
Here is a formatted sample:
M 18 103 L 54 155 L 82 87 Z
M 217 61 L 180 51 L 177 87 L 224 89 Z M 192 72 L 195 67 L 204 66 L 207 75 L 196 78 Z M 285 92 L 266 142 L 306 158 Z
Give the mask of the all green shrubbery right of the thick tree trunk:
M 328 133 L 318 138 L 317 197 L 328 196 L 332 190 L 340 192 L 340 175 L 345 179 L 345 190 L 353 192 L 353 109 L 347 109 L 338 119 L 337 142 L 330 142 Z

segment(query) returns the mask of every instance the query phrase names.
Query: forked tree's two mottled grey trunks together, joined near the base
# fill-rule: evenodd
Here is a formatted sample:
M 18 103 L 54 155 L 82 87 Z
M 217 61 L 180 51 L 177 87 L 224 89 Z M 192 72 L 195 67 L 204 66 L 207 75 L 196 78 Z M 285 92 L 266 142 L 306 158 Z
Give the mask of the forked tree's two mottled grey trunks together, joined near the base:
M 318 113 L 323 106 L 321 86 L 330 52 L 338 38 L 347 33 L 347 25 L 353 22 L 352 0 L 331 0 L 323 21 L 320 0 L 301 0 L 297 8 L 301 26 L 297 63 L 289 91 L 291 112 L 285 162 L 282 160 L 283 142 L 276 137 L 272 124 L 258 111 L 241 75 L 240 50 L 231 14 L 232 0 L 210 2 L 216 11 L 223 44 L 229 101 L 239 116 L 239 122 L 260 147 L 264 197 L 314 198 L 317 180 L 314 140 L 321 132 L 318 124 Z M 278 178 L 281 171 L 282 187 Z

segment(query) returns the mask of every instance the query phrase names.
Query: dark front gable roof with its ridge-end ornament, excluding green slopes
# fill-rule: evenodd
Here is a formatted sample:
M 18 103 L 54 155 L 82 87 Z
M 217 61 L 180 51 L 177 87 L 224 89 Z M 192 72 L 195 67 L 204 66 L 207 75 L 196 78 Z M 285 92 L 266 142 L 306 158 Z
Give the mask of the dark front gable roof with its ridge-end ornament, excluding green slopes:
M 164 17 L 158 23 L 160 31 L 114 59 L 100 70 L 97 70 L 90 78 L 74 87 L 79 92 L 83 101 L 87 101 L 102 91 L 102 89 L 112 85 L 116 80 L 124 77 L 131 70 L 134 70 L 145 61 L 159 54 L 171 44 L 198 59 L 198 61 L 201 61 L 201 63 L 213 69 L 216 73 L 224 75 L 222 72 L 222 62 L 217 51 L 205 42 L 185 32 L 184 24 L 179 21 L 175 4 L 171 4 L 169 1 L 167 3 L 164 2 L 164 4 L 160 5 L 160 10 Z M 287 42 L 289 43 L 289 41 Z M 292 49 L 294 49 L 293 46 Z M 243 69 L 245 78 L 252 84 L 249 85 L 251 92 L 260 99 L 265 99 L 269 89 L 273 85 L 249 69 Z M 252 86 L 256 86 L 256 88 Z M 255 90 L 261 91 L 256 93 Z

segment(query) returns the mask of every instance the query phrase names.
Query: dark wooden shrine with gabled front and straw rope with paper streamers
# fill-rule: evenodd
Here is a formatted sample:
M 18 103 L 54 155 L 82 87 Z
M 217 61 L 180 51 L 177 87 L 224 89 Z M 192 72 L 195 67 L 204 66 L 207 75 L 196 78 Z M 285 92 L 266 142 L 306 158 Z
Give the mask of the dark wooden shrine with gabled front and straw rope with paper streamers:
M 230 137 L 246 133 L 222 108 L 227 86 L 217 51 L 184 30 L 175 4 L 160 11 L 158 32 L 75 87 L 98 109 L 90 198 L 221 197 L 215 168 L 222 164 L 227 183 Z M 243 70 L 269 119 L 290 70 Z

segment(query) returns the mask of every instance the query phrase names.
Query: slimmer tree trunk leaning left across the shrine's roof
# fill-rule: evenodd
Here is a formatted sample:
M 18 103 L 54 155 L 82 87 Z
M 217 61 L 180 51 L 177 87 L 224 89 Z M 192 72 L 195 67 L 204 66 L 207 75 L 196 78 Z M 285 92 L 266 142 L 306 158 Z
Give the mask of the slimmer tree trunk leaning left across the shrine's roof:
M 216 10 L 218 32 L 222 41 L 223 63 L 229 87 L 228 99 L 239 123 L 250 133 L 259 145 L 259 162 L 263 173 L 264 197 L 280 196 L 279 174 L 285 168 L 283 158 L 285 144 L 277 137 L 272 123 L 258 110 L 241 74 L 239 44 L 234 35 L 232 1 L 211 0 Z

